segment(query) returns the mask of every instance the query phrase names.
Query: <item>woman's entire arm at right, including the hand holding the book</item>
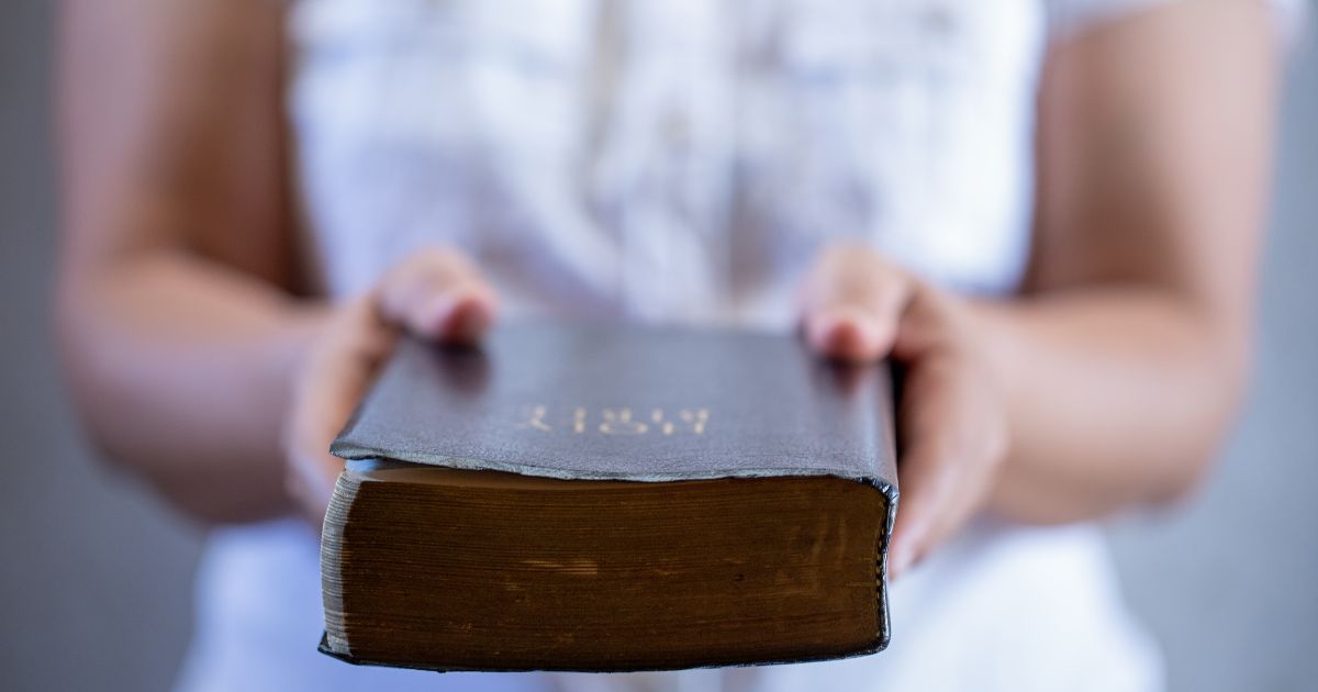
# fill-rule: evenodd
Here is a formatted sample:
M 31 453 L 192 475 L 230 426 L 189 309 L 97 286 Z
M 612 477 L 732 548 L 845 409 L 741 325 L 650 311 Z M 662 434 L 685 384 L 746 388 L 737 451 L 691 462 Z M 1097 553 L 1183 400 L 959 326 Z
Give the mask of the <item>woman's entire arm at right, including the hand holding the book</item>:
M 911 365 L 895 571 L 985 506 L 1089 519 L 1202 475 L 1248 368 L 1275 63 L 1248 0 L 1169 4 L 1054 46 L 1020 297 L 952 295 L 857 248 L 820 260 L 812 344 Z

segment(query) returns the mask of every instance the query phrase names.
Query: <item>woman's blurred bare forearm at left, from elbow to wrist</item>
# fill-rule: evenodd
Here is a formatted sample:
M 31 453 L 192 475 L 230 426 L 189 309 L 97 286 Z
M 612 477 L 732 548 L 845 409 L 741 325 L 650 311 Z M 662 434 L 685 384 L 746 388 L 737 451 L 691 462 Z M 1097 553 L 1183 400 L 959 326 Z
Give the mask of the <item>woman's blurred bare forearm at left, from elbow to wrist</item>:
M 322 308 L 182 250 L 65 275 L 61 351 L 101 451 L 204 519 L 286 511 L 279 431 Z

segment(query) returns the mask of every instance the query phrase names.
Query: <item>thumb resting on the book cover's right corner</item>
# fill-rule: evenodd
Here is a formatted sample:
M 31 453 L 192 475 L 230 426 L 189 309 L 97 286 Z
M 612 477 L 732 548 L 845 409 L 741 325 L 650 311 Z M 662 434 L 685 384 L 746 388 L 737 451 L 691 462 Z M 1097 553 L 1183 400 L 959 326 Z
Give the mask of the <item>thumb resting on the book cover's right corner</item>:
M 892 347 L 909 293 L 909 277 L 873 250 L 830 248 L 805 282 L 805 339 L 826 357 L 853 362 L 882 359 Z

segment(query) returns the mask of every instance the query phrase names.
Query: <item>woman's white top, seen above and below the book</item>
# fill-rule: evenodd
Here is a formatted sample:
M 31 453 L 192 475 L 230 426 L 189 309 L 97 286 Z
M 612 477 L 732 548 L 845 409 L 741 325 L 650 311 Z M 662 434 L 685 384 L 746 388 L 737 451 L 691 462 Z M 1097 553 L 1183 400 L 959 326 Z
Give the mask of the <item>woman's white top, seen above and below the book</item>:
M 804 268 L 842 237 L 954 290 L 1010 293 L 1043 51 L 1116 5 L 302 0 L 290 108 L 306 248 L 344 297 L 416 248 L 457 246 L 510 319 L 787 330 Z M 892 584 L 887 651 L 829 663 L 348 666 L 315 650 L 316 536 L 295 521 L 215 531 L 196 598 L 188 691 L 1161 687 L 1083 525 L 975 522 Z

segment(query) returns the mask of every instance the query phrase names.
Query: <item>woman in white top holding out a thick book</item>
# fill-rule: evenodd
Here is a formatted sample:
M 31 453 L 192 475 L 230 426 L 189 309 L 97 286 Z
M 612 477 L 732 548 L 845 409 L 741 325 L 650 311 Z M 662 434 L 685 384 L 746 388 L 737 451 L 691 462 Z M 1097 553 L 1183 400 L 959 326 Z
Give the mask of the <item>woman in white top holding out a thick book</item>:
M 1239 399 L 1263 4 L 66 0 L 62 30 L 76 399 L 233 525 L 182 688 L 1159 687 L 1087 522 L 1191 489 Z M 374 364 L 523 315 L 904 361 L 892 647 L 634 676 L 316 654 L 326 448 Z

